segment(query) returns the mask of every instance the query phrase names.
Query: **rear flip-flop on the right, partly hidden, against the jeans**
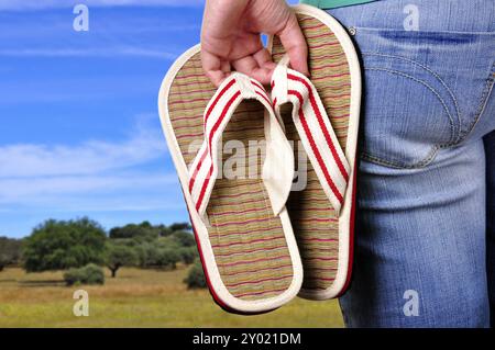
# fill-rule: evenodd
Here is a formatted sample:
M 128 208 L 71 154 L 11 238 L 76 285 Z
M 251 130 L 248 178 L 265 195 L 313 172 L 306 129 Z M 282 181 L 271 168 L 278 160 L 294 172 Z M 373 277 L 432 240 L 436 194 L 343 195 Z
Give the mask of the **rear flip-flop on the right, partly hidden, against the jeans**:
M 296 145 L 302 185 L 287 202 L 304 266 L 299 295 L 327 300 L 345 291 L 352 271 L 361 72 L 353 44 L 333 18 L 309 5 L 294 10 L 311 78 L 288 69 L 280 41 L 271 37 L 278 63 L 272 100 Z

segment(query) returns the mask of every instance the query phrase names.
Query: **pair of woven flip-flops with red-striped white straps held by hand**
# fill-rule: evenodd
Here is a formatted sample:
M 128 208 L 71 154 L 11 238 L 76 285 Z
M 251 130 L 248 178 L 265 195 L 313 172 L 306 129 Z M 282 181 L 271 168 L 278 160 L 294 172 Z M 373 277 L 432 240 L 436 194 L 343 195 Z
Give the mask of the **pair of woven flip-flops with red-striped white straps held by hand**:
M 160 91 L 208 285 L 233 313 L 268 312 L 298 294 L 337 297 L 350 281 L 359 60 L 328 13 L 294 11 L 310 79 L 288 68 L 283 45 L 271 37 L 278 65 L 270 93 L 239 72 L 217 89 L 202 71 L 199 45 L 177 59 Z

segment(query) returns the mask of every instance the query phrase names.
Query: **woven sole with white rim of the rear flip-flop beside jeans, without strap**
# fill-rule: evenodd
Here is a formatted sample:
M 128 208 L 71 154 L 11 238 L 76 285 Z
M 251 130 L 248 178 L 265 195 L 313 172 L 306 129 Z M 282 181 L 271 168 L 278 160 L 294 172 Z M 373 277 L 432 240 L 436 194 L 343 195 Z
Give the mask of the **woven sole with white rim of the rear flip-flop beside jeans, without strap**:
M 344 205 L 338 217 L 318 177 L 308 161 L 307 185 L 293 191 L 287 210 L 299 246 L 304 283 L 299 293 L 310 300 L 341 295 L 352 271 L 355 206 L 355 155 L 361 98 L 361 70 L 354 46 L 344 29 L 328 13 L 309 5 L 294 8 L 308 44 L 311 82 L 330 117 L 339 143 L 352 166 Z M 271 37 L 268 49 L 278 63 L 285 50 L 277 37 Z M 292 122 L 290 106 L 283 110 L 287 138 L 299 142 Z M 296 163 L 300 147 L 295 147 Z

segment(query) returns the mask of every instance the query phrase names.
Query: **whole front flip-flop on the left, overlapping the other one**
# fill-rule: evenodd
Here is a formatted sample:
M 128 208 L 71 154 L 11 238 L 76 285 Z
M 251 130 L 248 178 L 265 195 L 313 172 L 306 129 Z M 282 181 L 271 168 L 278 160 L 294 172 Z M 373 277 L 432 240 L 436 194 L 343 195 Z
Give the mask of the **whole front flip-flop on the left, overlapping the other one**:
M 294 153 L 264 88 L 234 72 L 216 89 L 197 45 L 167 72 L 158 108 L 217 304 L 256 314 L 290 301 L 302 283 L 285 208 Z

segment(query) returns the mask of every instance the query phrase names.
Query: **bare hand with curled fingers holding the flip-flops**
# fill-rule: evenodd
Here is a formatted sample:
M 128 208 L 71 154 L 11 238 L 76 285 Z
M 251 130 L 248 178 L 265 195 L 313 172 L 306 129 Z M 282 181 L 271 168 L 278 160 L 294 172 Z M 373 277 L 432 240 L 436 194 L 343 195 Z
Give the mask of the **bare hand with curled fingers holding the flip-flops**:
M 268 84 L 275 64 L 260 34 L 279 36 L 293 69 L 309 76 L 308 48 L 284 0 L 207 0 L 201 32 L 202 68 L 219 86 L 231 69 Z

